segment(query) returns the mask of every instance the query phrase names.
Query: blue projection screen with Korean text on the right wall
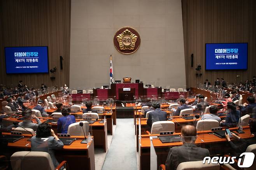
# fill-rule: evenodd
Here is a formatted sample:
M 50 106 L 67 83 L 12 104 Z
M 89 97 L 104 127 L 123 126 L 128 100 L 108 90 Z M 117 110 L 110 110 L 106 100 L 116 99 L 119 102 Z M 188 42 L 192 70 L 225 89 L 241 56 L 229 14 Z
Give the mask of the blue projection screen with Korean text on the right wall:
M 247 43 L 205 44 L 205 69 L 247 69 Z

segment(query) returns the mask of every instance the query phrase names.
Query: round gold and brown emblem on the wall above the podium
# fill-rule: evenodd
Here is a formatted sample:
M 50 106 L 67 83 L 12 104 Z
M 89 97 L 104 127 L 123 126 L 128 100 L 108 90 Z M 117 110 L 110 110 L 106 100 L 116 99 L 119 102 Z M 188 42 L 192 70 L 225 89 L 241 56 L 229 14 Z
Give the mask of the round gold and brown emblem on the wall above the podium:
M 122 54 L 132 54 L 140 46 L 140 35 L 131 27 L 123 27 L 116 32 L 114 45 Z

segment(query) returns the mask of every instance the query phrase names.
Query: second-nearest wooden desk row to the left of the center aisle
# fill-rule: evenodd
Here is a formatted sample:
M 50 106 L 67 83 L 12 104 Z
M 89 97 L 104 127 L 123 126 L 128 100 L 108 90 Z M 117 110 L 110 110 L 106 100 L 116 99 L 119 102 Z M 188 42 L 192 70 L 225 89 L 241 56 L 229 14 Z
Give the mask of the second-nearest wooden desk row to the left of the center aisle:
M 40 121 L 43 123 L 47 119 L 52 118 L 40 118 Z M 76 121 L 81 121 L 82 119 L 77 119 Z M 18 118 L 4 118 L 3 123 L 7 125 L 11 125 L 14 121 L 21 122 Z M 35 119 L 32 119 L 33 123 L 37 123 Z M 9 123 L 8 123 L 9 122 Z M 96 121 L 93 124 L 89 124 L 90 129 L 92 130 L 92 136 L 94 138 L 94 145 L 95 147 L 102 147 L 105 152 L 107 152 L 107 121 L 104 123 L 99 123 L 100 120 Z M 54 130 L 54 133 L 57 134 L 57 124 L 56 123 L 49 123 Z

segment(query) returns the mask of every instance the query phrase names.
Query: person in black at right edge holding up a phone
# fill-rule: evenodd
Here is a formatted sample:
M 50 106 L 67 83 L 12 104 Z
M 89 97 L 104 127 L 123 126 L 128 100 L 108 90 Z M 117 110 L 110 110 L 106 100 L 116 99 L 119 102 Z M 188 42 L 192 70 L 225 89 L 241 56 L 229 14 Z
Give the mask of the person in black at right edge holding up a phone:
M 233 139 L 236 139 L 238 141 L 238 143 L 236 144 L 234 144 L 230 140 L 230 136 L 226 134 L 226 139 L 230 144 L 232 150 L 235 152 L 234 156 L 239 156 L 241 153 L 244 153 L 249 145 L 256 144 L 256 119 L 252 119 L 250 123 L 250 130 L 251 134 L 253 134 L 254 136 L 246 140 L 231 132 L 231 134 L 233 135 Z

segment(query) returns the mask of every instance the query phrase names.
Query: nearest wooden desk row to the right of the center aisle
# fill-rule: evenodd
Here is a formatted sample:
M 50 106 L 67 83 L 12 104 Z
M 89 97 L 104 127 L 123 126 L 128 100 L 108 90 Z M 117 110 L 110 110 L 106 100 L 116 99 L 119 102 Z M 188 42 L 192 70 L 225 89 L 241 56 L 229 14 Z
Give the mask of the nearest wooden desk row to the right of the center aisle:
M 236 130 L 237 128 L 230 128 L 231 131 Z M 216 135 L 209 134 L 210 131 L 200 131 L 198 132 L 197 139 L 195 144 L 199 147 L 203 147 L 209 150 L 210 155 L 216 154 L 227 154 L 229 150 L 229 146 L 227 145 L 226 138 L 219 138 Z M 244 134 L 239 134 L 239 137 L 243 139 L 248 139 L 251 136 L 251 132 L 249 126 L 244 127 Z M 175 133 L 174 135 L 180 135 L 180 133 Z M 151 145 L 150 145 L 150 136 L 156 135 L 142 135 L 139 140 L 139 170 L 148 170 L 150 169 L 151 162 Z M 170 142 L 170 143 L 162 143 L 160 139 L 152 140 L 154 150 L 156 152 L 157 166 L 159 167 L 161 164 L 165 164 L 167 160 L 168 153 L 170 151 L 170 147 L 181 146 L 182 142 Z

